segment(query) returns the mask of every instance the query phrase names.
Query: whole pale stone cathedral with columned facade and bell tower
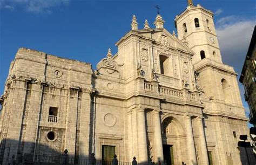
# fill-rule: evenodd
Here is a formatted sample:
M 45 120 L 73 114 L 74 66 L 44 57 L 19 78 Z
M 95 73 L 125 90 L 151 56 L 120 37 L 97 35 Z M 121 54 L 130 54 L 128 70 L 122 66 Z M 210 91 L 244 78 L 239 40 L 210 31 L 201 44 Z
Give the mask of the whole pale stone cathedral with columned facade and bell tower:
M 102 164 L 113 155 L 127 164 L 247 164 L 237 143 L 248 119 L 213 12 L 190 0 L 175 18 L 177 35 L 164 23 L 158 14 L 154 27 L 145 20 L 138 29 L 133 16 L 117 53 L 109 49 L 96 70 L 18 49 L 0 98 L 1 164 L 64 150 L 71 164 L 91 155 Z

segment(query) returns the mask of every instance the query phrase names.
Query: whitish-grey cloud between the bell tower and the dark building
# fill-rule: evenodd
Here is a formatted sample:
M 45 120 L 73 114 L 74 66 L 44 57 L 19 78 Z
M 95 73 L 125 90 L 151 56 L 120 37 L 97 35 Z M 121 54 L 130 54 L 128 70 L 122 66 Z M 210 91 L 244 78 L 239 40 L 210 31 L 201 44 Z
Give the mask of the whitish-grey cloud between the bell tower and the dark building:
M 256 20 L 237 16 L 217 20 L 216 31 L 223 61 L 234 66 L 238 73 L 241 72 L 255 23 Z

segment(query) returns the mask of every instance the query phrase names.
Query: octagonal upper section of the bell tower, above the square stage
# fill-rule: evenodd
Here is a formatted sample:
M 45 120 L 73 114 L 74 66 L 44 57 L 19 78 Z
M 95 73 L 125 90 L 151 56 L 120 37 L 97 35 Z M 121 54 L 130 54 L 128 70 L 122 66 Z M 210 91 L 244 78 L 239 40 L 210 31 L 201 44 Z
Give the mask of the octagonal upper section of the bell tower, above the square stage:
M 193 64 L 204 58 L 222 63 L 213 12 L 188 0 L 186 10 L 176 16 L 175 23 L 178 38 L 195 53 Z

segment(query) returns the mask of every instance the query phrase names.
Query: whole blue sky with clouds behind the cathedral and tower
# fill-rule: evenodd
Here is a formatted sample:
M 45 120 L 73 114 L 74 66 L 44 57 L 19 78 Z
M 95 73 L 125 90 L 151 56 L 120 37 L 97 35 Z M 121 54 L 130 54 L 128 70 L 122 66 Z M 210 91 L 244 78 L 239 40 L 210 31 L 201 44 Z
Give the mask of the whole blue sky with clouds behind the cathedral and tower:
M 214 22 L 225 64 L 238 76 L 256 23 L 254 0 L 194 0 L 215 13 Z M 11 60 L 19 47 L 91 63 L 93 68 L 107 49 L 128 32 L 132 15 L 139 28 L 147 19 L 151 27 L 157 15 L 155 5 L 172 32 L 174 18 L 187 6 L 186 0 L 97 1 L 97 0 L 0 0 L 0 93 Z M 242 100 L 244 91 L 239 84 Z

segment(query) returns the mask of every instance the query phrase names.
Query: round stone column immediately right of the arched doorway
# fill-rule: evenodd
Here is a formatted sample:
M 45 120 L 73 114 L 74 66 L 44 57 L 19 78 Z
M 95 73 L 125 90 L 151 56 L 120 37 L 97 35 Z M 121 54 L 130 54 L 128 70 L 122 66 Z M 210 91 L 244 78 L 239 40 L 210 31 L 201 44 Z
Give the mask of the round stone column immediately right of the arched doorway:
M 187 132 L 187 157 L 188 164 L 197 164 L 196 150 L 194 146 L 194 136 L 191 123 L 191 116 L 185 116 L 186 132 Z

